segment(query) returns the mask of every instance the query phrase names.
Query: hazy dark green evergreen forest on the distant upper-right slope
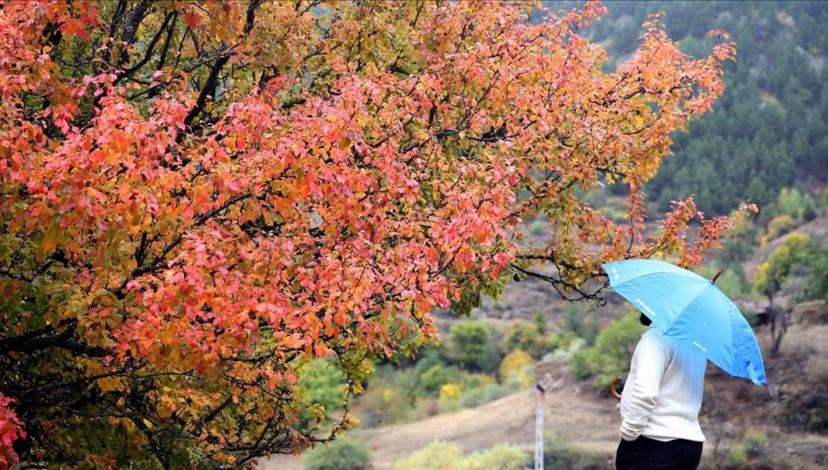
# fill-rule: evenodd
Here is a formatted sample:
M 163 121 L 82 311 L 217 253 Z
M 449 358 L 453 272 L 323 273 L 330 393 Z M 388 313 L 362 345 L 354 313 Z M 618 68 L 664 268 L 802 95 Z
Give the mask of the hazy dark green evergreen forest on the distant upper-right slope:
M 573 2 L 544 2 L 553 10 Z M 735 61 L 724 65 L 726 91 L 713 113 L 673 135 L 673 158 L 649 182 L 662 204 L 694 194 L 705 213 L 728 213 L 750 199 L 760 209 L 783 188 L 821 196 L 828 170 L 828 2 L 614 1 L 582 34 L 604 46 L 606 68 L 632 54 L 648 15 L 681 50 L 700 57 L 729 33 Z

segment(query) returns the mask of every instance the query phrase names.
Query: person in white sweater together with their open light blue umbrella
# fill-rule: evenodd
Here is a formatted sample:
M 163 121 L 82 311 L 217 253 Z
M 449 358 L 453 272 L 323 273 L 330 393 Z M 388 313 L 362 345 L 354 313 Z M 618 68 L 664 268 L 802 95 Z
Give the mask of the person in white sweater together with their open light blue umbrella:
M 753 330 L 712 281 L 665 261 L 631 259 L 602 265 L 609 287 L 641 311 L 638 341 L 621 400 L 618 470 L 699 466 L 699 424 L 707 360 L 731 376 L 768 385 Z

